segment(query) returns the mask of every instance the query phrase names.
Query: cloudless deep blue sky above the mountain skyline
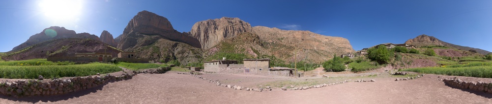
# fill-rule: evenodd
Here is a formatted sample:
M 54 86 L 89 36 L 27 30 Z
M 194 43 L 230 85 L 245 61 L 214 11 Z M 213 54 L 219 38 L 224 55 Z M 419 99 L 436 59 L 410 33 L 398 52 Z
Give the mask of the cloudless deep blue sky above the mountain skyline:
M 492 0 L 1 0 L 0 52 L 50 26 L 97 36 L 107 30 L 116 38 L 142 10 L 166 17 L 180 32 L 190 31 L 197 21 L 237 17 L 252 26 L 343 37 L 355 50 L 426 34 L 492 51 L 491 4 Z

